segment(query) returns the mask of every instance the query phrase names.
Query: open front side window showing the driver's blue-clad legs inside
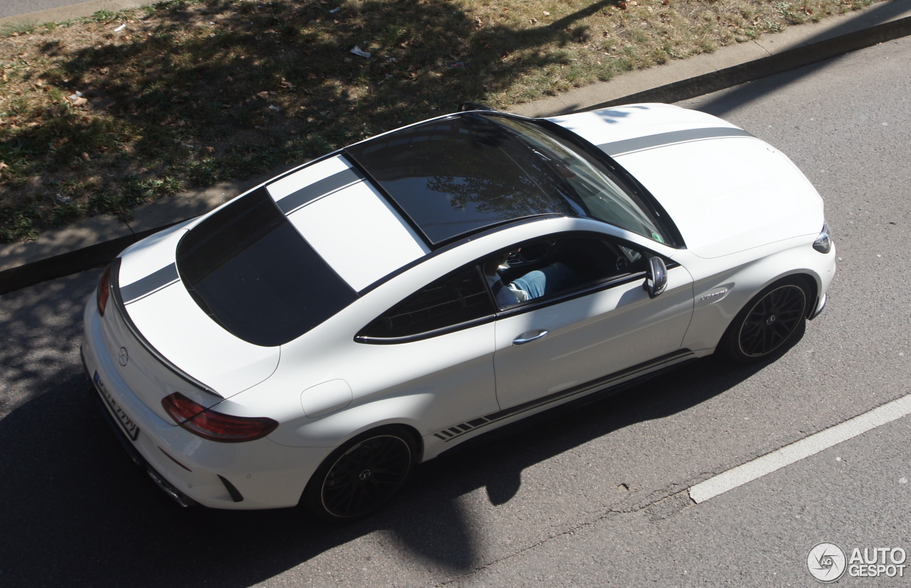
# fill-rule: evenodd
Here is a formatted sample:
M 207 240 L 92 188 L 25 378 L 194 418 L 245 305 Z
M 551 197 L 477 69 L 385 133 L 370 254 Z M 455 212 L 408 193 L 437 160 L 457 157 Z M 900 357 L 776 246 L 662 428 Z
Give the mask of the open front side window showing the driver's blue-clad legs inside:
M 646 257 L 601 237 L 555 236 L 499 251 L 482 268 L 496 304 L 507 309 L 637 274 Z

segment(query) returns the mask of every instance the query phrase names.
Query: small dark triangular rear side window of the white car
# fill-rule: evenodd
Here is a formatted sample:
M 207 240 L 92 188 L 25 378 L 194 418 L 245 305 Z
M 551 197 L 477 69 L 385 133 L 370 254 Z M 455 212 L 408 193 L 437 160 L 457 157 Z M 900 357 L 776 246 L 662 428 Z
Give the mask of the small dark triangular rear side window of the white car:
M 386 310 L 358 337 L 391 339 L 445 329 L 495 311 L 476 266 L 457 269 Z

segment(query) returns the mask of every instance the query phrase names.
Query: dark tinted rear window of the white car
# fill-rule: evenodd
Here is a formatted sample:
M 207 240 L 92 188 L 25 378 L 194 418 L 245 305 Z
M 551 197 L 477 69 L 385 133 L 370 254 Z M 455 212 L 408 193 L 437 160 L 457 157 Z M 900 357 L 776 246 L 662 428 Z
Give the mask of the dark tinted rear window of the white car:
M 264 347 L 301 336 L 357 298 L 265 188 L 181 238 L 177 267 L 201 309 L 235 336 Z

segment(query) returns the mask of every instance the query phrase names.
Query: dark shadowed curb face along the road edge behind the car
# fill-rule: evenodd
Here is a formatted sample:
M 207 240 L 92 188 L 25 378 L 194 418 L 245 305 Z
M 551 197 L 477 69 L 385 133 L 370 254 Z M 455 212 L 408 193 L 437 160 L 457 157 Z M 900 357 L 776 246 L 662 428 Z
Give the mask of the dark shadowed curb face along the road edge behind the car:
M 833 35 L 816 42 L 785 49 L 773 55 L 752 59 L 735 66 L 724 67 L 710 73 L 692 76 L 605 102 L 589 104 L 583 107 L 567 107 L 561 114 L 637 102 L 678 102 L 798 67 L 812 65 L 825 59 L 841 56 L 907 35 L 911 35 L 911 16 L 866 26 L 861 30 L 841 35 Z M 238 182 L 236 186 L 246 188 L 245 184 Z M 240 189 L 236 193 L 240 194 Z M 110 259 L 116 257 L 121 250 L 139 239 L 195 216 L 172 218 L 169 222 L 158 227 L 148 228 L 127 236 L 99 241 L 84 248 L 69 250 L 44 259 L 26 261 L 21 265 L 0 270 L 0 294 L 28 288 L 48 279 L 62 278 L 104 265 Z

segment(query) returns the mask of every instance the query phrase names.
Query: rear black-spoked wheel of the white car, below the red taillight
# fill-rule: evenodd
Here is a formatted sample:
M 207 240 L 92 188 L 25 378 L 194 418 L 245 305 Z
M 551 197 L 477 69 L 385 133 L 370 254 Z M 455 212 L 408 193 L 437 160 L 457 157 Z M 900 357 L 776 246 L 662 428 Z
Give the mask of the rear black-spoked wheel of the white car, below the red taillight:
M 344 443 L 322 462 L 303 491 L 304 506 L 328 521 L 358 519 L 379 509 L 415 463 L 415 437 L 381 427 Z

